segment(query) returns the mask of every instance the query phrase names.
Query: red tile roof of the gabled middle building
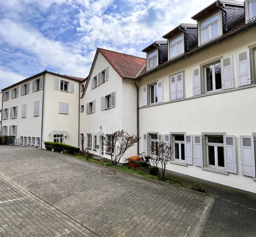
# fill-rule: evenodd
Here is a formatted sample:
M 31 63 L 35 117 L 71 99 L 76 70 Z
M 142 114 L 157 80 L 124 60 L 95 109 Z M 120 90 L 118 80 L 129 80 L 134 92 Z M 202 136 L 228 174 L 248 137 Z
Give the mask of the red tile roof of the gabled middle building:
M 101 52 L 121 77 L 135 78 L 146 64 L 146 58 L 118 53 L 107 49 L 98 48 L 98 51 Z

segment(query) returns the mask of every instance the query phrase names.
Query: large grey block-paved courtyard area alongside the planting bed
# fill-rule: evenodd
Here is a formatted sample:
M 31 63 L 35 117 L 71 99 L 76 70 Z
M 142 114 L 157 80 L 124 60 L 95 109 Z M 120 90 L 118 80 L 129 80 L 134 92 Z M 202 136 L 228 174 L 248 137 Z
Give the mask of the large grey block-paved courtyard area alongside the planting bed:
M 0 146 L 2 173 L 100 236 L 183 237 L 205 198 L 121 171 L 100 173 L 106 169 L 46 150 Z

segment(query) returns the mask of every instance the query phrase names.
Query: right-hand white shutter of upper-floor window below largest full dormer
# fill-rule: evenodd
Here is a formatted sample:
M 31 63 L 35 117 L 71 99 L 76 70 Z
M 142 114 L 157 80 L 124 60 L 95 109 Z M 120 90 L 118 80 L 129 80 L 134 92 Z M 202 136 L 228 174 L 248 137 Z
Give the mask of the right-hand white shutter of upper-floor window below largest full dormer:
M 233 56 L 221 59 L 222 89 L 234 88 Z

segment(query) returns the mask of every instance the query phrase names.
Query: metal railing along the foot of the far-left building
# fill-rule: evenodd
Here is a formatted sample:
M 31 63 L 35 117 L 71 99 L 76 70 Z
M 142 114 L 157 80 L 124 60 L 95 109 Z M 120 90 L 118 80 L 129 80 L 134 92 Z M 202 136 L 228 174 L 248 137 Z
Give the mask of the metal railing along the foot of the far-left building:
M 22 147 L 38 147 L 46 149 L 44 141 L 38 138 L 7 138 L 7 145 L 22 146 Z

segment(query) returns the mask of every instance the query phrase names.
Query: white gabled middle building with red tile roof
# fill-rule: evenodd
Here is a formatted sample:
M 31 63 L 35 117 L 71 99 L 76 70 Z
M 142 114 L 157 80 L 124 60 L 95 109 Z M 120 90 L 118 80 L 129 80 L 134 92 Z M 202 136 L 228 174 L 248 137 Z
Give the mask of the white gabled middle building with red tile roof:
M 80 102 L 80 136 L 87 139 L 91 154 L 110 159 L 113 132 L 137 135 L 135 77 L 145 65 L 145 58 L 97 49 Z M 136 154 L 137 145 L 127 150 L 120 163 Z

